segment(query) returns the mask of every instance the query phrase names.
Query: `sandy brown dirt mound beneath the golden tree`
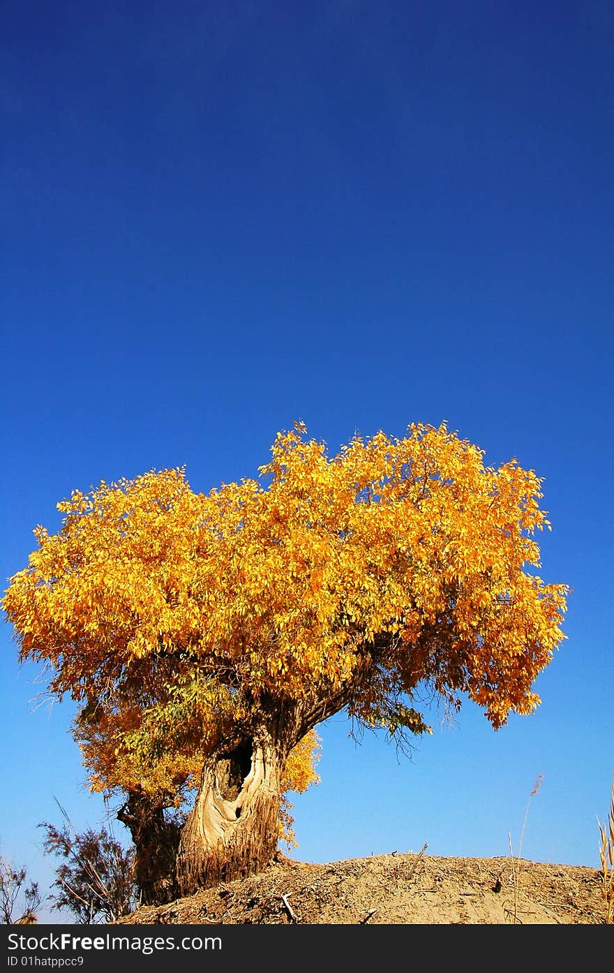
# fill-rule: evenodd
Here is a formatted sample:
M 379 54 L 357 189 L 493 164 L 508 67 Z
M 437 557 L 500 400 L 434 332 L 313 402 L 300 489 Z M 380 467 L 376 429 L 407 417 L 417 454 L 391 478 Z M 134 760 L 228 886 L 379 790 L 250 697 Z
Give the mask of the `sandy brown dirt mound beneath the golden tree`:
M 601 925 L 595 868 L 527 859 L 374 855 L 315 865 L 284 855 L 260 875 L 142 908 L 121 924 Z

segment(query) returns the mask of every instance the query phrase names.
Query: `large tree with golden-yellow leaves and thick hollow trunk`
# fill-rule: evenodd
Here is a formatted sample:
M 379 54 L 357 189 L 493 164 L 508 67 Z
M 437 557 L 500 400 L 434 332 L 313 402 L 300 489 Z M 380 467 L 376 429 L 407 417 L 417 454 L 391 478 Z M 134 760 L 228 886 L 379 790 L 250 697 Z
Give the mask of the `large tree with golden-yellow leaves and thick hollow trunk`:
M 329 457 L 295 423 L 259 473 L 75 490 L 3 600 L 19 658 L 78 703 L 92 786 L 127 781 L 156 813 L 195 788 L 183 894 L 271 861 L 290 754 L 325 719 L 402 743 L 429 731 L 427 696 L 496 730 L 535 709 L 564 637 L 568 589 L 531 571 L 541 481 L 515 459 L 423 424 Z

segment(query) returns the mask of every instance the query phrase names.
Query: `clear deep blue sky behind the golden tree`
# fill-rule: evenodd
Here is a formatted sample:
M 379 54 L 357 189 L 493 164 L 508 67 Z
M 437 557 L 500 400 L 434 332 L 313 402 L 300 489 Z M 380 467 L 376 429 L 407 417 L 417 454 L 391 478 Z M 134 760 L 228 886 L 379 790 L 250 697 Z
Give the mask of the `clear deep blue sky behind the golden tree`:
M 411 761 L 321 727 L 306 861 L 393 849 L 598 865 L 614 773 L 614 11 L 601 0 L 5 0 L 1 574 L 73 488 L 256 476 L 303 419 L 447 420 L 544 478 L 573 588 L 530 717 L 466 704 Z M 5 585 L 6 587 L 6 585 Z M 72 709 L 1 633 L 0 851 L 98 826 Z M 119 825 L 118 825 L 119 828 Z

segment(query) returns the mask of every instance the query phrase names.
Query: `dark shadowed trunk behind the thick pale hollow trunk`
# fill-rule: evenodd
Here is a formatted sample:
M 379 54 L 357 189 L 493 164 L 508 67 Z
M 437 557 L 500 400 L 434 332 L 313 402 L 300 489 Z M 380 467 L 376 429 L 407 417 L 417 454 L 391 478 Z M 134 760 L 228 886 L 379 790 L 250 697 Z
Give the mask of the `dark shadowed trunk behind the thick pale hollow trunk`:
M 164 816 L 163 803 L 132 792 L 118 811 L 135 847 L 134 867 L 142 905 L 160 905 L 177 898 L 175 863 L 180 828 Z

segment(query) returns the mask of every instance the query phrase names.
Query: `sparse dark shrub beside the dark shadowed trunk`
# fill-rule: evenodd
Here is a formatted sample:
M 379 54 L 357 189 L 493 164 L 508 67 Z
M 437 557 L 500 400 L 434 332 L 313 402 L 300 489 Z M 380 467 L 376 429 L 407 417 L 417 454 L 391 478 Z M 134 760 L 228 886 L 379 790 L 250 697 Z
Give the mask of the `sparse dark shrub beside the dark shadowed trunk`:
M 45 851 L 64 859 L 55 869 L 51 894 L 55 909 L 68 909 L 87 925 L 111 922 L 132 912 L 138 899 L 134 849 L 121 847 L 107 828 L 87 828 L 79 834 L 61 805 L 64 824 L 44 821 Z

